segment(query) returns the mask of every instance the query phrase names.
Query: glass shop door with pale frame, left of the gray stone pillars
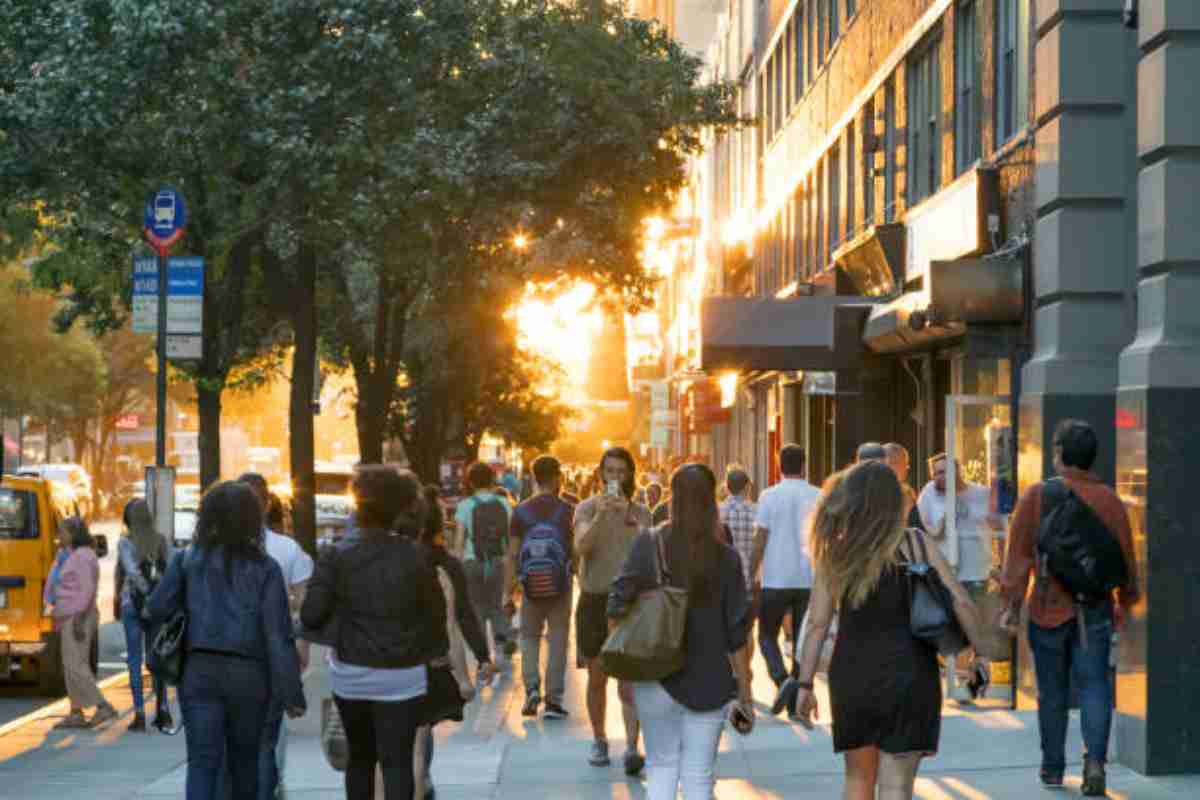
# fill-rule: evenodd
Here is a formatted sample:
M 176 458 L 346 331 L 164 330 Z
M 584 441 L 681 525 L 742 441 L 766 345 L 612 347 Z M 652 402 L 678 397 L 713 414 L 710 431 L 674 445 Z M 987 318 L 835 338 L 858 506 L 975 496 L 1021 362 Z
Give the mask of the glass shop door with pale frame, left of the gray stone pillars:
M 946 398 L 946 525 L 942 549 L 984 619 L 1002 608 L 1000 573 L 1016 505 L 1016 449 L 1010 398 Z M 1015 698 L 1012 663 L 992 664 L 992 686 Z M 996 692 L 1000 694 L 1000 692 Z

